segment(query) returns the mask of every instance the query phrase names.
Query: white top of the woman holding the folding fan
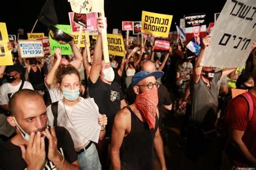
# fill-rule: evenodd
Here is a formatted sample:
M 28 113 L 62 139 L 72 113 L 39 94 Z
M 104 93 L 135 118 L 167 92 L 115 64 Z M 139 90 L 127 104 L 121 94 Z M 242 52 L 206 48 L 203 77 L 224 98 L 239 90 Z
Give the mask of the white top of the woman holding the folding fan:
M 84 100 L 84 98 L 80 97 L 81 100 Z M 72 114 L 73 107 L 69 107 L 68 105 L 64 106 L 64 103 L 62 100 L 58 102 L 58 118 L 57 118 L 57 125 L 63 126 L 66 129 L 68 129 L 69 133 L 71 134 L 71 137 L 73 139 L 75 148 L 84 146 L 86 143 L 88 143 L 88 139 L 83 137 L 72 125 Z M 48 125 L 53 126 L 53 114 L 51 111 L 51 105 L 47 107 L 47 116 L 48 116 Z

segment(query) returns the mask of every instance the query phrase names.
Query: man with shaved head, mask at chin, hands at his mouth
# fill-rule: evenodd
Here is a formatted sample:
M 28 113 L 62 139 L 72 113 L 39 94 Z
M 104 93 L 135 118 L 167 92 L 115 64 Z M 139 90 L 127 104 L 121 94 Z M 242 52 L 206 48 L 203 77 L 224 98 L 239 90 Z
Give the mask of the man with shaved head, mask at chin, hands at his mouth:
M 0 146 L 0 169 L 79 169 L 70 133 L 48 129 L 46 107 L 36 91 L 23 89 L 10 101 L 8 122 L 20 133 Z

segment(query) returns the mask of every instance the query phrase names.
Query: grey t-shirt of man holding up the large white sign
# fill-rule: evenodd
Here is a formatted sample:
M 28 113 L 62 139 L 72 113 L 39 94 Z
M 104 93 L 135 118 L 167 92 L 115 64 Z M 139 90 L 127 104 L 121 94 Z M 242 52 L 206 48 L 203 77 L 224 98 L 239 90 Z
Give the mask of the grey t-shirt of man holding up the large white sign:
M 191 104 L 192 111 L 190 121 L 191 124 L 202 126 L 204 130 L 213 128 L 217 119 L 218 94 L 217 86 L 222 71 L 216 72 L 210 81 L 211 87 L 208 87 L 203 80 L 199 80 L 197 84 L 191 82 Z

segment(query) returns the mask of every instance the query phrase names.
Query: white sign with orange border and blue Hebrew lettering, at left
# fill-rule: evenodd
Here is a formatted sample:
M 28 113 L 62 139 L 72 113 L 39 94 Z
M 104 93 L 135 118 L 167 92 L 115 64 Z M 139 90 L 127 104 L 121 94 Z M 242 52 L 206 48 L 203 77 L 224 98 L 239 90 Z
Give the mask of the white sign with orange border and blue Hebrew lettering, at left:
M 41 40 L 19 40 L 18 46 L 21 58 L 43 57 L 43 43 Z

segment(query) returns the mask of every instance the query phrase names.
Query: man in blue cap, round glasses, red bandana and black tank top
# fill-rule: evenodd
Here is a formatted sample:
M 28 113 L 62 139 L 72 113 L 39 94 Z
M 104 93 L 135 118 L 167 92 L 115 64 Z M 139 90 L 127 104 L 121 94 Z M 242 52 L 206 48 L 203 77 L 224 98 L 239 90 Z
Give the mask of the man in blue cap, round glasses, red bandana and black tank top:
M 136 101 L 120 110 L 114 118 L 110 145 L 113 169 L 154 169 L 154 150 L 161 169 L 166 169 L 158 128 L 159 83 L 156 81 L 163 74 L 141 71 L 133 76 Z

